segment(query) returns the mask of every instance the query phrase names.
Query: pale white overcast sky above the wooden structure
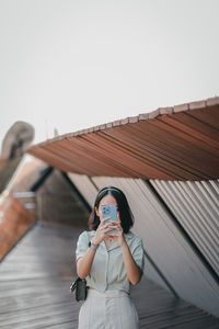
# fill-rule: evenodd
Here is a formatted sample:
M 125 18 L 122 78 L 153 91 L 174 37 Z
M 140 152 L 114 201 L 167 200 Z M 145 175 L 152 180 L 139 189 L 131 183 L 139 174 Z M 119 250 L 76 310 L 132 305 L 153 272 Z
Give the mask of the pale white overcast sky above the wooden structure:
M 218 95 L 218 0 L 0 0 L 0 143 Z

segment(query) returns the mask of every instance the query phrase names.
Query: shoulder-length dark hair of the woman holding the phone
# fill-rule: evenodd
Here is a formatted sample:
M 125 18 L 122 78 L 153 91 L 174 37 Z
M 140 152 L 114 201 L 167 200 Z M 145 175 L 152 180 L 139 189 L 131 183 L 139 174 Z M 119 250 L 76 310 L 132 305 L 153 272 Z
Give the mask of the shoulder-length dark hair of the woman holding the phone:
M 120 217 L 120 225 L 123 227 L 124 232 L 127 234 L 134 225 L 134 215 L 130 211 L 128 201 L 127 201 L 124 192 L 114 186 L 106 186 L 106 188 L 103 188 L 101 191 L 99 191 L 95 202 L 94 202 L 93 209 L 89 217 L 89 223 L 88 223 L 89 229 L 96 230 L 96 228 L 99 227 L 100 217 L 96 215 L 95 207 L 99 208 L 99 204 L 100 204 L 101 200 L 107 194 L 112 194 L 115 197 L 115 200 L 117 201 L 119 217 Z

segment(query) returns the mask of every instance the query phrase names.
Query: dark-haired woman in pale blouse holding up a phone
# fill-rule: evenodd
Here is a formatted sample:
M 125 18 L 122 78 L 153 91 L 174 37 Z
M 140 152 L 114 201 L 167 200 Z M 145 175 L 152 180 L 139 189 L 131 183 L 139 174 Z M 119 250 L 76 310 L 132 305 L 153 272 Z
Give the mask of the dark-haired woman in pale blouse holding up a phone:
M 117 220 L 106 223 L 110 217 L 103 218 L 104 205 L 116 206 Z M 129 285 L 141 279 L 143 247 L 141 238 L 130 232 L 132 225 L 125 194 L 113 186 L 102 189 L 89 218 L 90 231 L 79 236 L 76 250 L 77 273 L 89 286 L 79 329 L 139 328 Z

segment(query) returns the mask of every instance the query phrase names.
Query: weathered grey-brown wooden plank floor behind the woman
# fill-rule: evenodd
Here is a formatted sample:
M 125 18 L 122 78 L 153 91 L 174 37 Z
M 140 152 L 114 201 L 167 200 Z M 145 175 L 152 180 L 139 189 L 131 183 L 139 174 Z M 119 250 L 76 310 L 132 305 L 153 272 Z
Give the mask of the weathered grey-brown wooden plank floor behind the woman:
M 74 248 L 80 231 L 38 223 L 3 260 L 1 329 L 77 328 L 81 304 L 74 302 L 69 286 L 72 276 L 76 277 Z M 140 328 L 219 328 L 219 319 L 174 298 L 149 280 L 142 280 L 131 294 Z

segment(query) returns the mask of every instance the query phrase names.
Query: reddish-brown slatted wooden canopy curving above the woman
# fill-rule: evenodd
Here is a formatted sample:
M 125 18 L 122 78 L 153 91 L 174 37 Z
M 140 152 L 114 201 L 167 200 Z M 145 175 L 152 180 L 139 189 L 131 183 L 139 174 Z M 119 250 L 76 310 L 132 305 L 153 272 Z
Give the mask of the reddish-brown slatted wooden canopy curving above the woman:
M 161 107 L 46 140 L 28 154 L 67 172 L 160 180 L 219 177 L 219 98 Z

